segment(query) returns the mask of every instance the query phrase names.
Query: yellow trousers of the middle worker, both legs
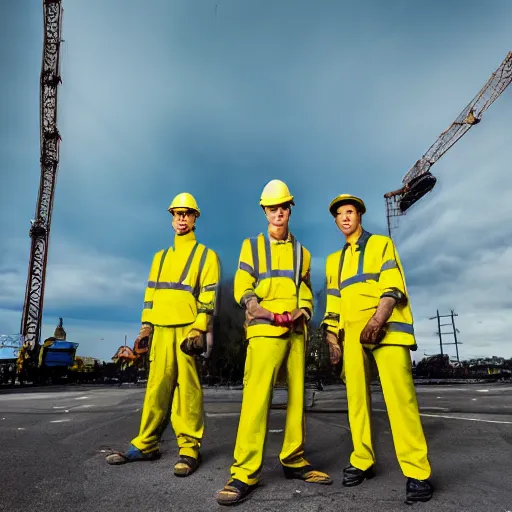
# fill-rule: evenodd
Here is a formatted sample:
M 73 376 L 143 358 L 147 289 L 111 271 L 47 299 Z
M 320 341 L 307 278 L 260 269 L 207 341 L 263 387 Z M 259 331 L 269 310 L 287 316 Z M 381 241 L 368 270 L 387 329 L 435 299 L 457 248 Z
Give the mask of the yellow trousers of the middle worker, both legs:
M 308 465 L 304 458 L 304 334 L 251 338 L 245 360 L 235 461 L 231 466 L 231 477 L 249 485 L 258 482 L 261 472 L 272 391 L 287 354 L 288 405 L 279 460 L 288 467 Z

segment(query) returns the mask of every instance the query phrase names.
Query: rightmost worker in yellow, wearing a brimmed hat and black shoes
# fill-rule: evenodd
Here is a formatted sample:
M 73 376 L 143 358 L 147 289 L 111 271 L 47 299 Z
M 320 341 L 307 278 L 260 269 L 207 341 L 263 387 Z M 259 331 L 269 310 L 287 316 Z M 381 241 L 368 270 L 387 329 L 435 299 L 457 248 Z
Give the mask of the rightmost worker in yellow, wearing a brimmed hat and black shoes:
M 407 478 L 406 499 L 428 501 L 431 468 L 412 379 L 410 351 L 417 346 L 402 264 L 391 238 L 363 229 L 366 207 L 361 199 L 339 195 L 329 211 L 346 238 L 343 249 L 327 258 L 322 322 L 331 362 L 337 364 L 343 354 L 354 448 L 343 485 L 375 476 L 369 392 L 369 357 L 374 357 L 397 458 Z

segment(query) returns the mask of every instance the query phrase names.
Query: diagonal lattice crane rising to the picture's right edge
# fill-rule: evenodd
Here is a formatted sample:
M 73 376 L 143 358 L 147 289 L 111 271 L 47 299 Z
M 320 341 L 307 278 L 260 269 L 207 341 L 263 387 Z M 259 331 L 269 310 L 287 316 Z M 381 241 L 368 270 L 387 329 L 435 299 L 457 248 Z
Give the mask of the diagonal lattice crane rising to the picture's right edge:
M 478 124 L 482 114 L 512 82 L 512 52 L 509 52 L 499 68 L 491 75 L 480 92 L 471 100 L 457 119 L 438 137 L 427 152 L 412 166 L 402 179 L 402 187 L 384 194 L 388 233 L 398 225 L 398 217 L 435 186 L 437 178 L 430 168 L 471 127 Z M 394 224 L 393 221 L 395 221 Z

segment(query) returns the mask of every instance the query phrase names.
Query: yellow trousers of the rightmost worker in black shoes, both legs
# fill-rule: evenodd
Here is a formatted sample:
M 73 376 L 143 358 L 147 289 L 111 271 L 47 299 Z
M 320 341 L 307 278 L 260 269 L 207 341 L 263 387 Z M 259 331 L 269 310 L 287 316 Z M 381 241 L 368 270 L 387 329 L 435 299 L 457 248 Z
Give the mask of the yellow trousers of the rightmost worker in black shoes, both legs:
M 359 341 L 364 326 L 365 324 L 349 324 L 345 327 L 343 349 L 348 417 L 354 445 L 350 463 L 363 471 L 375 462 L 370 425 L 370 367 L 368 355 Z M 379 370 L 395 451 L 402 472 L 406 477 L 426 479 L 430 476 L 431 468 L 412 379 L 409 348 L 379 345 L 373 348 L 372 353 Z

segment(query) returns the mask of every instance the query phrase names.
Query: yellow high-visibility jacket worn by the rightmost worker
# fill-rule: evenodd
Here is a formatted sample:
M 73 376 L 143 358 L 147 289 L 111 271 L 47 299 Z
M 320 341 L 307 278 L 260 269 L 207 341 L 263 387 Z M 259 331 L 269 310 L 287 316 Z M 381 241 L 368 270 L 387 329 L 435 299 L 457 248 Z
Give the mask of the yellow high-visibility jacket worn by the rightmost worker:
M 322 323 L 328 331 L 338 335 L 348 324 L 367 322 L 382 294 L 397 288 L 407 300 L 395 306 L 382 344 L 416 350 L 404 271 L 391 238 L 363 230 L 358 240 L 347 242 L 327 257 L 325 274 L 327 300 Z

